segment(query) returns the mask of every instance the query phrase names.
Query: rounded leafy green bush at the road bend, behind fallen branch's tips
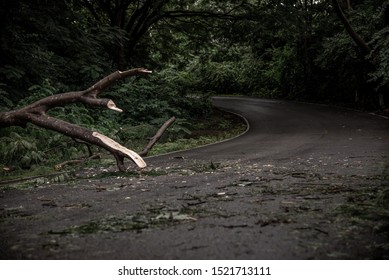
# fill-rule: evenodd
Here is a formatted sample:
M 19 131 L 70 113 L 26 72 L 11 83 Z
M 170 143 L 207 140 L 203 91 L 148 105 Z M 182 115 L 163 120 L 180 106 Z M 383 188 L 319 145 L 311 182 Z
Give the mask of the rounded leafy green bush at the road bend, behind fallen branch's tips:
M 209 95 L 188 90 L 190 81 L 185 73 L 171 69 L 154 73 L 148 78 L 132 79 L 106 93 L 124 110 L 126 124 L 150 123 L 154 120 L 191 118 L 210 112 Z

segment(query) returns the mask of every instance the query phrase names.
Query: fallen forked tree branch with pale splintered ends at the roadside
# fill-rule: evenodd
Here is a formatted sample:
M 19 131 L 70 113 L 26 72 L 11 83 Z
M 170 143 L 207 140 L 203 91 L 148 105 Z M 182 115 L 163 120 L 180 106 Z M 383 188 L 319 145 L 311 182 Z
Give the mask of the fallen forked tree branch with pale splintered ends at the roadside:
M 122 112 L 121 109 L 116 107 L 112 100 L 98 98 L 98 94 L 100 94 L 103 90 L 114 84 L 119 79 L 148 73 L 151 73 L 151 71 L 143 68 L 137 68 L 123 72 L 116 71 L 84 91 L 55 94 L 38 100 L 21 109 L 9 112 L 1 112 L 0 128 L 8 126 L 25 127 L 27 123 L 32 123 L 37 126 L 50 129 L 72 138 L 83 140 L 84 142 L 104 148 L 115 157 L 117 167 L 120 171 L 125 171 L 124 158 L 130 158 L 139 168 L 144 168 L 146 167 L 146 163 L 134 151 L 123 147 L 119 143 L 103 134 L 100 134 L 97 131 L 91 131 L 86 128 L 79 127 L 75 124 L 53 118 L 47 115 L 47 111 L 54 107 L 80 102 L 86 105 L 102 106 L 114 111 Z

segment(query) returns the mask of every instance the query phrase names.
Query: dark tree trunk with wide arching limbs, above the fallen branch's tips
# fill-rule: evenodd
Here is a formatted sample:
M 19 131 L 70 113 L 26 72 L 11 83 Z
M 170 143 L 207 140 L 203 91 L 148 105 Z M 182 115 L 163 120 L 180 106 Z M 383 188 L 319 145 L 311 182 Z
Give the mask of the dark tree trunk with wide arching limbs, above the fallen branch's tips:
M 113 49 L 109 51 L 113 63 L 119 69 L 127 67 L 139 41 L 157 22 L 163 19 L 194 17 L 233 20 L 236 19 L 234 12 L 247 5 L 243 1 L 243 3 L 236 4 L 228 11 L 212 12 L 205 9 L 187 10 L 180 8 L 170 10 L 169 7 L 174 7 L 174 4 L 171 5 L 172 3 L 166 0 L 79 0 L 78 4 L 86 8 L 98 24 L 105 20 L 109 22 L 111 27 L 117 27 L 126 32 L 127 40 L 112 46 Z

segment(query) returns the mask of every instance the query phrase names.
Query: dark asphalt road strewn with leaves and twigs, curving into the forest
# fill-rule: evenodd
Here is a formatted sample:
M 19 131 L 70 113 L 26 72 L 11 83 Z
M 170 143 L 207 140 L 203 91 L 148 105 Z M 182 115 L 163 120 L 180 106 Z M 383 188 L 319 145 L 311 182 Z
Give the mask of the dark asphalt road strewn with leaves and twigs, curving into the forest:
M 104 177 L 107 170 L 97 170 L 87 177 L 96 173 L 88 170 L 76 180 L 3 189 L 1 256 L 389 256 L 386 232 L 378 230 L 385 221 L 369 212 L 389 186 L 387 119 L 252 98 L 219 97 L 215 105 L 244 116 L 249 130 L 223 143 L 146 158 L 149 167 L 139 176 Z

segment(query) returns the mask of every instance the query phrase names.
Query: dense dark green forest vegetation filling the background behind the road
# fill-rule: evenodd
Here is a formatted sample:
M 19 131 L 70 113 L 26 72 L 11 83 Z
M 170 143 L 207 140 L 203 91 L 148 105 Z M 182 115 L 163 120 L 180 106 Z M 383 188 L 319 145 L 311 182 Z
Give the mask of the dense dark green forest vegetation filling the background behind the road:
M 173 115 L 166 139 L 185 136 L 211 113 L 212 94 L 382 109 L 389 1 L 338 2 L 367 55 L 330 0 L 1 0 L 0 111 L 133 67 L 154 73 L 105 92 L 124 113 L 81 105 L 50 113 L 131 147 Z M 2 129 L 0 137 L 1 167 L 30 168 L 86 149 L 33 126 Z

